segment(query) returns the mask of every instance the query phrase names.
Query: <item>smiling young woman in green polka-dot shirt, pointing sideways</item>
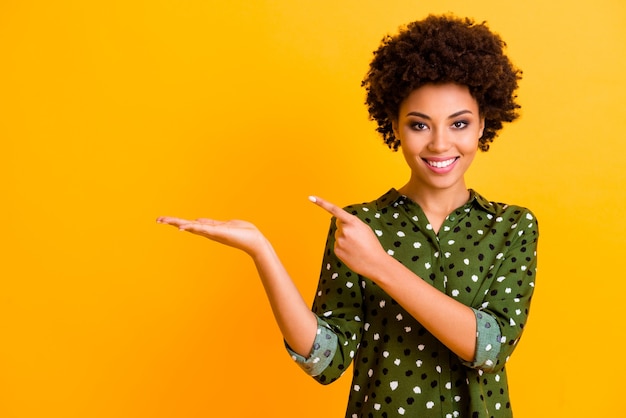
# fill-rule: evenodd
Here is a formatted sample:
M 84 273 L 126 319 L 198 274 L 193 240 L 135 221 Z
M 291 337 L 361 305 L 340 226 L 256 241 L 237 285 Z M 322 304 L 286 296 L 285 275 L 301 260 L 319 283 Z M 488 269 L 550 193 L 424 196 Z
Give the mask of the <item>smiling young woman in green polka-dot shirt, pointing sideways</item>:
M 465 184 L 476 152 L 517 118 L 521 72 L 485 24 L 429 16 L 383 39 L 363 81 L 408 182 L 333 215 L 310 310 L 244 221 L 158 221 L 254 260 L 287 349 L 319 382 L 354 362 L 346 417 L 508 417 L 505 363 L 528 317 L 537 222 Z

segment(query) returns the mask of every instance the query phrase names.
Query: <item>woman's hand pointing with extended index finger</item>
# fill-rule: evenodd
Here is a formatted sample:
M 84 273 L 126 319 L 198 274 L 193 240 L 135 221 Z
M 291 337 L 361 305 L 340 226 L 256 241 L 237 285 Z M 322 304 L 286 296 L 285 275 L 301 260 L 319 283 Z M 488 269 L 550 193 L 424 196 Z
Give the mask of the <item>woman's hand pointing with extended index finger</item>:
M 352 271 L 375 280 L 378 267 L 389 257 L 374 231 L 351 213 L 319 197 L 309 198 L 337 219 L 335 255 Z

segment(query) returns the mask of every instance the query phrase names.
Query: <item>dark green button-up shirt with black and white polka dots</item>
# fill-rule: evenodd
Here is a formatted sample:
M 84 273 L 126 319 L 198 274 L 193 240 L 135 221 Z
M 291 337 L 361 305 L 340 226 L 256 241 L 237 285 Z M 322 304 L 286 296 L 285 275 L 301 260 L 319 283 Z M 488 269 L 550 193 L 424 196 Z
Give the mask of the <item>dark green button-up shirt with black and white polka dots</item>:
M 534 289 L 533 214 L 472 190 L 438 234 L 395 189 L 346 210 L 374 230 L 390 255 L 474 310 L 476 358 L 461 360 L 374 282 L 350 271 L 333 251 L 333 219 L 313 302 L 317 336 L 309 357 L 289 350 L 294 360 L 323 384 L 354 361 L 349 418 L 511 416 L 504 365 Z

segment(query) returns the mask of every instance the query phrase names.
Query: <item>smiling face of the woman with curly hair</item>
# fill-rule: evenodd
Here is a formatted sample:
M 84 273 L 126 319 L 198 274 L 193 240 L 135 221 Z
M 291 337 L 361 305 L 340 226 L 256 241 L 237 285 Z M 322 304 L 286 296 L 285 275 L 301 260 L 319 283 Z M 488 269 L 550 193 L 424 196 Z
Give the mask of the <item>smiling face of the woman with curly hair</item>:
M 427 84 L 401 103 L 393 124 L 411 169 L 411 190 L 467 193 L 465 172 L 478 150 L 484 119 L 465 86 Z

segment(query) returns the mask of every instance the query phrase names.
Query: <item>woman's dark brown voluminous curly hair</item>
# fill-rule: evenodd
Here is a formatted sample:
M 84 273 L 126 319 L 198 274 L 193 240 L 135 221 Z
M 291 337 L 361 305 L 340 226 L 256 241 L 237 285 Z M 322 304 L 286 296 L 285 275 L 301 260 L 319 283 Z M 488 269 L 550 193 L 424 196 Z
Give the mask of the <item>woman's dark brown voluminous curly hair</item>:
M 505 46 L 485 22 L 449 15 L 428 16 L 384 37 L 361 85 L 370 119 L 387 146 L 394 151 L 400 146 L 392 122 L 413 90 L 453 82 L 467 86 L 478 103 L 485 118 L 478 147 L 487 151 L 502 123 L 519 116 L 514 92 L 522 72 L 504 55 Z

